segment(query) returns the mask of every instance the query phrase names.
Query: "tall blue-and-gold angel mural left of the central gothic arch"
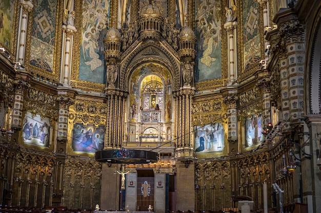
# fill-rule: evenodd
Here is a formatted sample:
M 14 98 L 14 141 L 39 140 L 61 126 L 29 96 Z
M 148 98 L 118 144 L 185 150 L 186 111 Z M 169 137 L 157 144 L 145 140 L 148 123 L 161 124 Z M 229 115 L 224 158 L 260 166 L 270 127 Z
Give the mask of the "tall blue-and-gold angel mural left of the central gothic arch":
M 83 1 L 79 80 L 106 83 L 105 45 L 110 1 Z

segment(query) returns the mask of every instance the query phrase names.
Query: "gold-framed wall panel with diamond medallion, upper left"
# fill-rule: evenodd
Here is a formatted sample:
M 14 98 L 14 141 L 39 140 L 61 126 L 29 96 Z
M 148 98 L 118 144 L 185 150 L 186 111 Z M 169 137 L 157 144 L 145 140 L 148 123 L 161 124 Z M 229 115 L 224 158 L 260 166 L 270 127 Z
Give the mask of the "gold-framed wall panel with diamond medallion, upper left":
M 62 52 L 62 1 L 33 1 L 28 14 L 25 67 L 31 74 L 59 81 Z

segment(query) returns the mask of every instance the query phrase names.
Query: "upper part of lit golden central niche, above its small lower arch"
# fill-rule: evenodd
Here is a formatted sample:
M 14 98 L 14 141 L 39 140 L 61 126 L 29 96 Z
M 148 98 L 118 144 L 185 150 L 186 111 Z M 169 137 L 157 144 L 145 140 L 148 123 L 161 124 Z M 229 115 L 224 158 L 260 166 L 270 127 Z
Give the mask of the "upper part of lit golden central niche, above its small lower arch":
M 139 118 L 142 123 L 170 122 L 172 82 L 169 70 L 162 64 L 147 62 L 133 69 L 128 85 L 129 121 L 138 122 Z

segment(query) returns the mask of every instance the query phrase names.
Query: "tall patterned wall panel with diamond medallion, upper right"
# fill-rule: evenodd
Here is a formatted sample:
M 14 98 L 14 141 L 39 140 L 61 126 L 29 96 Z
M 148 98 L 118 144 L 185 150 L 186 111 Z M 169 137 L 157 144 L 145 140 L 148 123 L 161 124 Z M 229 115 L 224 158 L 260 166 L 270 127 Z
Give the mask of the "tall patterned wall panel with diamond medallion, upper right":
M 252 67 L 261 60 L 259 25 L 259 4 L 257 1 L 243 2 L 243 62 L 245 69 Z

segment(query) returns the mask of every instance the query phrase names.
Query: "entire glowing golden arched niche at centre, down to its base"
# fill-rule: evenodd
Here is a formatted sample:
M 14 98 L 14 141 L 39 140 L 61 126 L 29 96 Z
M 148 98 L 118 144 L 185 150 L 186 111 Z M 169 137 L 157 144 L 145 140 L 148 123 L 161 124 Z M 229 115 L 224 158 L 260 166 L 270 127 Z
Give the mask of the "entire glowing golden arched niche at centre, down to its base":
M 126 88 L 129 94 L 126 144 L 153 147 L 166 143 L 173 132 L 170 70 L 163 64 L 146 62 L 133 67 L 130 73 Z

